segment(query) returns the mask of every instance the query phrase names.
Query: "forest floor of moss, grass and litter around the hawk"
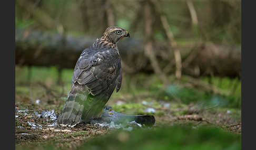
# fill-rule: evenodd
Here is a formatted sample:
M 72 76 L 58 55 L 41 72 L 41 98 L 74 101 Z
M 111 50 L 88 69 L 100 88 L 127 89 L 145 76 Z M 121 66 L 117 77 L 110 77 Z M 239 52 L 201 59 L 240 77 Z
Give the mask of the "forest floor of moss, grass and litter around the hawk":
M 186 133 L 181 132 L 187 131 L 192 134 L 193 130 L 200 130 L 201 127 L 204 128 L 205 126 L 218 128 L 218 131 L 211 130 L 214 131 L 211 133 L 213 135 L 216 133 L 222 135 L 223 131 L 223 138 L 224 136 L 232 136 L 230 138 L 233 139 L 230 142 L 231 147 L 236 144 L 235 149 L 241 147 L 241 92 L 239 93 L 241 87 L 234 87 L 237 84 L 231 79 L 212 80 L 212 85 L 218 89 L 217 91 L 222 93 L 232 92 L 232 94 L 219 95 L 209 90 L 204 91 L 198 86 L 196 88 L 184 88 L 187 78 L 176 82 L 173 77 L 170 77 L 170 80 L 173 80 L 175 84 L 163 87 L 155 76 L 139 74 L 129 77 L 124 74 L 121 91 L 114 92 L 106 105 L 112 106 L 113 110 L 123 114 L 152 114 L 156 120 L 152 127 L 134 127 L 134 131 L 124 131 L 121 128 L 116 129 L 83 123 L 73 128 L 51 126 L 54 121 L 51 121 L 50 118 L 38 117 L 35 111 L 42 113 L 42 111 L 54 110 L 56 114 L 61 112 L 66 100 L 66 93 L 71 86 L 72 70 L 62 72 L 62 82 L 60 84 L 56 83 L 57 73 L 54 68 L 33 68 L 29 82 L 27 81 L 27 73 L 26 68 L 16 67 L 16 149 L 45 149 L 47 145 L 49 149 L 49 144 L 50 149 L 79 149 L 86 143 L 91 143 L 94 149 L 101 149 L 99 147 L 95 148 L 95 144 L 93 144 L 95 141 L 92 141 L 95 137 L 109 139 L 108 135 L 116 135 L 117 141 L 121 143 L 130 142 L 130 145 L 132 145 L 131 140 L 133 138 L 130 138 L 130 141 L 127 138 L 135 136 L 133 132 L 134 134 L 139 132 L 145 134 L 144 132 L 148 130 L 146 134 L 150 134 L 168 127 L 166 133 L 170 131 L 174 134 L 174 137 L 179 135 L 185 138 Z M 200 79 L 200 81 L 208 82 L 208 79 Z M 241 83 L 241 81 L 237 82 Z M 214 91 L 216 92 L 216 90 Z M 185 126 L 185 129 L 179 128 L 182 126 Z M 187 130 L 187 127 L 190 130 Z M 204 137 L 206 133 L 205 131 L 202 132 Z M 200 131 L 198 131 L 199 133 Z M 154 135 L 156 134 L 154 133 Z M 160 137 L 157 138 L 160 139 Z M 164 138 L 164 136 L 161 138 Z M 96 141 L 99 140 L 98 138 L 95 139 Z M 227 140 L 226 137 L 225 139 Z M 97 142 L 102 144 L 102 140 Z M 221 140 L 221 136 L 216 137 L 215 140 Z M 111 145 L 111 143 L 114 143 L 112 141 L 109 141 L 109 147 L 106 149 L 116 149 L 113 148 L 115 144 Z M 200 143 L 200 140 L 198 142 Z M 234 144 L 234 142 L 237 143 Z M 90 146 L 87 145 L 86 147 Z

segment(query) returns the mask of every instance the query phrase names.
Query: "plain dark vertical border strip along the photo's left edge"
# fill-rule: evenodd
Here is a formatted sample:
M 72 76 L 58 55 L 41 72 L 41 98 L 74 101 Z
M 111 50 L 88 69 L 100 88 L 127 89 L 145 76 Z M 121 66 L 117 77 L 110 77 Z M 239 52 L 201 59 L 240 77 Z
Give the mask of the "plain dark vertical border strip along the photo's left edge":
M 1 149 L 15 149 L 15 1 L 1 7 Z

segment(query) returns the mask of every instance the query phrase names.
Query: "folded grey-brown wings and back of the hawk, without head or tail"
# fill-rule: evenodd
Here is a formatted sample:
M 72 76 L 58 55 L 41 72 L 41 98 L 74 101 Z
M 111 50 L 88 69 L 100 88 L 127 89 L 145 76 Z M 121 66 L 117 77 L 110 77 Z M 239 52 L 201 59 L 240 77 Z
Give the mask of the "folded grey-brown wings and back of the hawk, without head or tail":
M 95 51 L 97 49 L 91 48 L 82 52 L 77 60 L 72 82 L 86 85 L 92 95 L 97 95 L 109 87 L 116 87 L 118 92 L 122 84 L 119 53 L 114 49 Z

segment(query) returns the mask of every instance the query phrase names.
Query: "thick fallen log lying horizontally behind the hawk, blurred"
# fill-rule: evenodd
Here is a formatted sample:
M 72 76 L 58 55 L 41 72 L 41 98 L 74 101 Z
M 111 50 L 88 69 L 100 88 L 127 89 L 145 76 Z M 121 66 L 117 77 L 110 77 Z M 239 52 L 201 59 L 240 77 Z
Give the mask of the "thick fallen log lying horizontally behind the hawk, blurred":
M 56 66 L 74 68 L 81 52 L 96 37 L 75 37 L 58 33 L 16 28 L 15 63 L 22 66 Z M 168 43 L 154 42 L 156 59 L 167 74 L 175 73 L 173 52 Z M 144 53 L 144 41 L 136 38 L 119 42 L 122 68 L 126 73 L 153 73 Z M 182 74 L 199 76 L 241 77 L 241 47 L 206 43 L 178 46 L 181 49 Z M 172 49 L 173 50 L 173 49 Z

